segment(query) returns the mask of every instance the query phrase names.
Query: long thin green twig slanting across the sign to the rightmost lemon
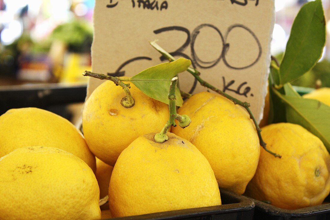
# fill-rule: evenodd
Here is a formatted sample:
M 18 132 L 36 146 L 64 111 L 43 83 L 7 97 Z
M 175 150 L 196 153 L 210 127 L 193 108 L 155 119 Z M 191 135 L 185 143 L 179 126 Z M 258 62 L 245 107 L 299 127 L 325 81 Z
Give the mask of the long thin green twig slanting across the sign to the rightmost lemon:
M 168 59 L 170 62 L 175 61 L 175 58 L 174 58 L 171 54 L 169 54 L 166 50 L 164 50 L 162 47 L 160 47 L 155 41 L 152 41 L 152 42 L 149 42 L 149 43 L 150 43 L 150 45 L 151 45 L 153 48 L 155 48 L 159 53 L 161 53 L 161 54 L 162 54 L 166 59 Z M 270 150 L 266 147 L 266 143 L 263 141 L 263 139 L 262 139 L 262 137 L 261 137 L 261 129 L 260 129 L 260 127 L 259 127 L 257 121 L 255 120 L 255 118 L 254 118 L 254 116 L 253 116 L 251 110 L 249 109 L 250 104 L 249 104 L 248 102 L 242 102 L 242 101 L 240 101 L 240 100 L 238 100 L 238 99 L 235 99 L 234 97 L 232 97 L 232 96 L 226 94 L 225 92 L 221 91 L 220 89 L 216 88 L 215 86 L 211 85 L 210 83 L 204 81 L 204 80 L 200 77 L 200 72 L 199 72 L 198 70 L 189 67 L 189 68 L 187 69 L 187 71 L 188 71 L 189 73 L 191 73 L 191 74 L 195 77 L 195 79 L 197 79 L 197 81 L 198 81 L 202 86 L 207 87 L 207 88 L 209 88 L 209 89 L 215 91 L 216 93 L 219 93 L 220 95 L 226 97 L 227 99 L 229 99 L 230 101 L 232 101 L 235 105 L 237 104 L 237 105 L 240 105 L 240 106 L 242 106 L 243 108 L 245 108 L 245 109 L 248 111 L 248 113 L 249 113 L 249 115 L 250 115 L 250 118 L 253 120 L 253 123 L 254 123 L 255 128 L 256 128 L 256 130 L 257 130 L 257 133 L 258 133 L 258 137 L 259 137 L 259 143 L 260 143 L 260 145 L 261 145 L 261 146 L 262 146 L 262 147 L 263 147 L 268 153 L 272 154 L 272 155 L 275 156 L 275 157 L 279 157 L 279 158 L 281 158 L 281 155 L 276 154 L 276 153 L 270 151 Z

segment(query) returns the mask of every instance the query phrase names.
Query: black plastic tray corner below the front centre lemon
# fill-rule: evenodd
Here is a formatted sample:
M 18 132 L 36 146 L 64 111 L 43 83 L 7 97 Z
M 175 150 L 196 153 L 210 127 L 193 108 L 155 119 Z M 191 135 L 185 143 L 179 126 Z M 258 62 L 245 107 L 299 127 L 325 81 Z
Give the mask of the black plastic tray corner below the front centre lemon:
M 173 219 L 198 219 L 198 220 L 249 220 L 253 219 L 254 203 L 245 196 L 220 189 L 222 205 L 203 208 L 189 208 L 175 211 L 157 212 L 145 215 L 112 218 L 111 220 L 173 220 Z

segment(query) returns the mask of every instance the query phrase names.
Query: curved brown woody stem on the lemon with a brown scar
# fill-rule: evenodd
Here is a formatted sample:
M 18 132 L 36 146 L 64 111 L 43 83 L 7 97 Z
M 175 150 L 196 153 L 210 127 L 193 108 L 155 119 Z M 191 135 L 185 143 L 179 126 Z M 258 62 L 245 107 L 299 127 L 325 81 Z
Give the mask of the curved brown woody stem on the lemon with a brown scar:
M 131 108 L 134 106 L 134 99 L 128 89 L 128 88 L 131 88 L 129 83 L 127 83 L 127 84 L 123 83 L 117 77 L 107 76 L 107 75 L 98 74 L 98 73 L 92 73 L 89 71 L 83 72 L 82 76 L 93 77 L 93 78 L 102 79 L 102 80 L 107 79 L 107 80 L 113 81 L 116 85 L 120 85 L 126 93 L 126 96 L 124 98 L 122 98 L 120 104 L 125 108 Z

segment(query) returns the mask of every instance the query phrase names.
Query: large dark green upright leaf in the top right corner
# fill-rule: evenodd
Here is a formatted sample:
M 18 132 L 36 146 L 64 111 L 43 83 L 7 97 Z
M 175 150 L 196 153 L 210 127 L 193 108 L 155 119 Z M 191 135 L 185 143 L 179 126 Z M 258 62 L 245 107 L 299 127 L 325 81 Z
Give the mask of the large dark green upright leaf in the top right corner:
M 306 3 L 294 19 L 280 66 L 281 85 L 311 70 L 325 45 L 325 18 L 321 0 Z

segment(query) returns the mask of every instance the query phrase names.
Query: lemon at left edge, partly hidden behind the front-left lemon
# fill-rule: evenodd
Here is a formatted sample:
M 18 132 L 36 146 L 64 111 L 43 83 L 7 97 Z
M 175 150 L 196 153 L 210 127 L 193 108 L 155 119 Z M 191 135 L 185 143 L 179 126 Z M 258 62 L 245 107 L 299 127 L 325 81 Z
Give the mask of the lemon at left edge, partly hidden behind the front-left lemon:
M 83 161 L 93 171 L 95 156 L 76 127 L 65 118 L 37 108 L 11 109 L 0 116 L 0 157 L 33 145 L 57 147 Z

